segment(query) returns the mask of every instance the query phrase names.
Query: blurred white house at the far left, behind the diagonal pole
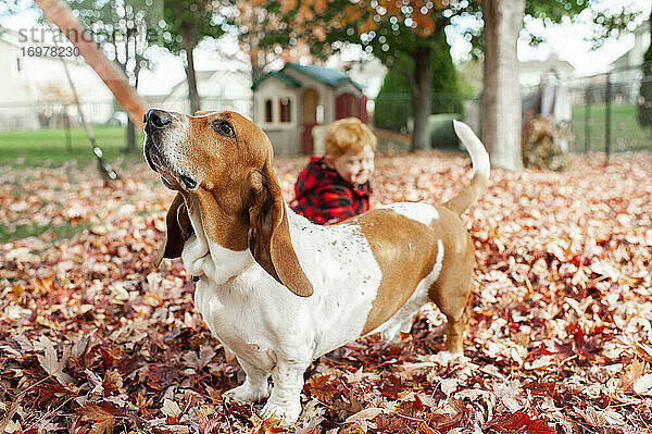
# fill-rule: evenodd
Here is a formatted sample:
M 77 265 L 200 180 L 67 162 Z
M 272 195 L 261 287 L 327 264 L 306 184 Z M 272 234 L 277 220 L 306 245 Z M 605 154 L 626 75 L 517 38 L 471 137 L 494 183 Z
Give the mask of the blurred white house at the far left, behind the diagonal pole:
M 113 97 L 100 77 L 82 57 L 30 57 L 23 52 L 23 48 L 45 46 L 53 45 L 32 41 L 7 28 L 0 33 L 0 129 L 61 126 L 66 111 L 76 119 L 77 109 L 73 104 L 65 108 L 65 101 L 72 103 L 72 92 L 61 59 L 74 77 L 87 117 L 106 122 L 113 113 Z M 70 44 L 67 47 L 72 48 Z

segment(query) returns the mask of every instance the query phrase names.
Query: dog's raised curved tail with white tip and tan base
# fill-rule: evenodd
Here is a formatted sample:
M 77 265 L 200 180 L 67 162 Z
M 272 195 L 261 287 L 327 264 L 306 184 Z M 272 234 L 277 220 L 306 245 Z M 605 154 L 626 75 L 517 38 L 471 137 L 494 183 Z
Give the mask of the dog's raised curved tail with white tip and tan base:
M 489 154 L 485 145 L 475 135 L 473 129 L 463 122 L 453 121 L 453 129 L 471 156 L 474 175 L 471 184 L 457 196 L 446 202 L 446 206 L 457 214 L 462 214 L 478 200 L 489 184 Z

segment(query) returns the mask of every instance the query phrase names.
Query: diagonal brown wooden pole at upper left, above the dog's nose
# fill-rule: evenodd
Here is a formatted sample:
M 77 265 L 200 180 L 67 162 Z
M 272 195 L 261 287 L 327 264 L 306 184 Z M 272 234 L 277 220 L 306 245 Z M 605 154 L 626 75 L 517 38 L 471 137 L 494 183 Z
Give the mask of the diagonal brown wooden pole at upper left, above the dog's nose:
M 64 0 L 35 0 L 43 11 L 46 20 L 59 27 L 86 60 L 86 63 L 106 84 L 111 92 L 129 115 L 135 125 L 142 128 L 142 115 L 145 104 L 136 90 L 129 86 L 125 73 L 112 61 L 106 59 L 97 42 L 92 39 L 92 33 L 75 15 Z

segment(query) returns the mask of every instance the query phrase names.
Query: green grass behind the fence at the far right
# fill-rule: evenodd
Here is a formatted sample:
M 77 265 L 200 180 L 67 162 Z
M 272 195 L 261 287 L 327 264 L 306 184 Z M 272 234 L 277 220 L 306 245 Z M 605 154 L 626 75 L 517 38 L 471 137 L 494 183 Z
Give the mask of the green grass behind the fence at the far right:
M 570 149 L 574 151 L 586 150 L 588 136 L 588 150 L 604 151 L 606 107 L 604 103 L 590 104 L 588 114 L 587 128 L 587 106 L 573 108 L 575 142 L 572 144 Z M 612 151 L 652 149 L 652 129 L 643 129 L 640 126 L 635 104 L 612 104 L 611 120 Z

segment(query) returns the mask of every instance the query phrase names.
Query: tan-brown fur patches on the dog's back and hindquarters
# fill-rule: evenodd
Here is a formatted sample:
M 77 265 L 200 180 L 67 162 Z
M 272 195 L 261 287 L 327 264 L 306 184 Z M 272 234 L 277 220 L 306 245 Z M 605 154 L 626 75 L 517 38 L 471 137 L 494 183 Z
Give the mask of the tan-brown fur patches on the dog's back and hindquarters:
M 353 220 L 360 224 L 383 272 L 362 335 L 389 320 L 432 271 L 438 240 L 443 246 L 443 259 L 428 297 L 449 318 L 449 323 L 451 318 L 455 322 L 463 317 L 471 292 L 473 244 L 459 216 L 443 207 L 437 207 L 437 211 L 439 218 L 430 226 L 389 209 L 372 210 Z

